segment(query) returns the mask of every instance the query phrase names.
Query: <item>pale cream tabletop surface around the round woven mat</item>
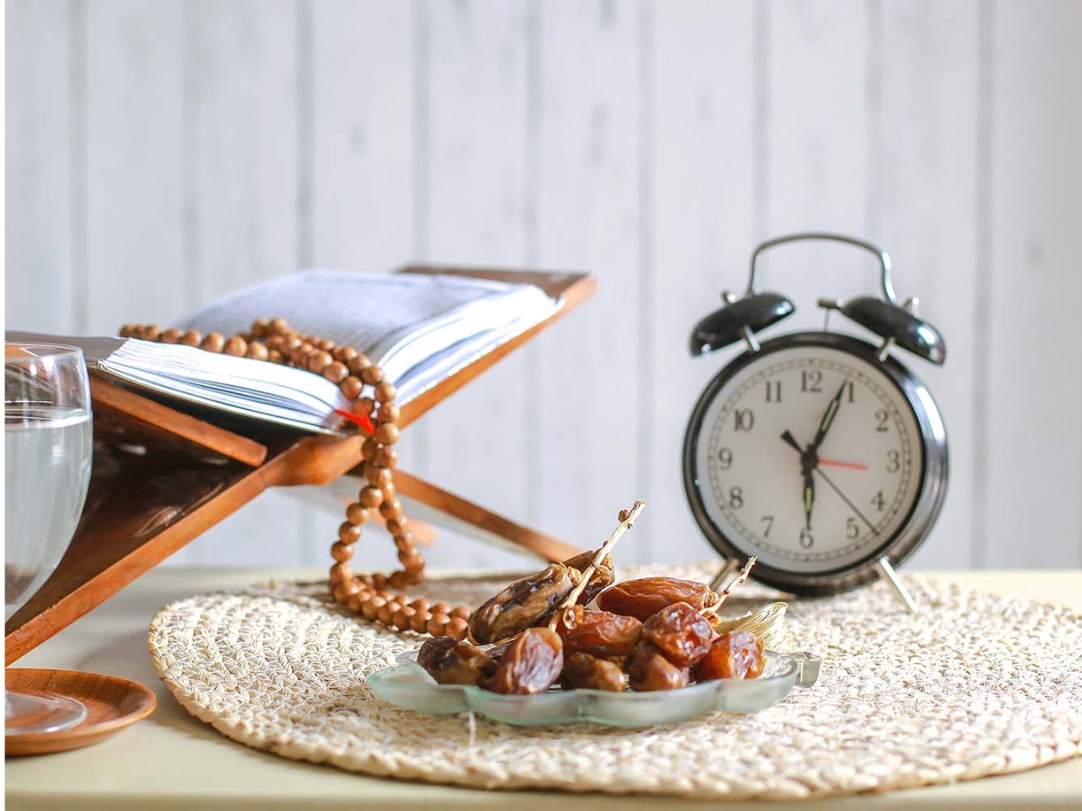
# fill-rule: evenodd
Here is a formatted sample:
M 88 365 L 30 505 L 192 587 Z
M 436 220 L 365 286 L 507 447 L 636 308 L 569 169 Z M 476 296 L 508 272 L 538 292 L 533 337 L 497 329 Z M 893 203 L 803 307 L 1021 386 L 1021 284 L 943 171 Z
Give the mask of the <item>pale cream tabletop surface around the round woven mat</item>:
M 158 569 L 19 660 L 15 666 L 110 674 L 151 687 L 147 720 L 85 749 L 5 762 L 6 807 L 18 809 L 1082 809 L 1082 758 L 1020 774 L 879 796 L 800 802 L 704 803 L 658 797 L 480 792 L 348 774 L 249 749 L 190 717 L 158 681 L 146 627 L 158 609 L 199 591 L 321 571 Z M 951 572 L 937 576 L 1082 609 L 1082 571 Z M 1082 656 L 1082 652 L 1076 651 Z

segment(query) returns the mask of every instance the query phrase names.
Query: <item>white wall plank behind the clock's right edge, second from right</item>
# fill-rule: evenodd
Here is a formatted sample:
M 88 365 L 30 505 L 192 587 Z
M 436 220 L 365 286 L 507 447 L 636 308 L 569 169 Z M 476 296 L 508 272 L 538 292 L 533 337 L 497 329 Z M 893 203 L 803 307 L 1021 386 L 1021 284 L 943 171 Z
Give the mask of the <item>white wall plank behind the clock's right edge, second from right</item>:
M 920 297 L 920 313 L 946 331 L 948 362 L 914 362 L 944 412 L 950 442 L 950 488 L 935 535 L 913 566 L 976 564 L 976 528 L 987 501 L 974 497 L 974 452 L 984 433 L 973 418 L 979 287 L 977 154 L 979 3 L 884 3 L 872 6 L 879 99 L 869 144 L 867 232 L 890 247 L 900 296 Z M 929 189 L 934 189 L 929 194 Z M 982 351 L 984 349 L 981 349 Z M 1065 545 L 1065 550 L 1069 548 Z

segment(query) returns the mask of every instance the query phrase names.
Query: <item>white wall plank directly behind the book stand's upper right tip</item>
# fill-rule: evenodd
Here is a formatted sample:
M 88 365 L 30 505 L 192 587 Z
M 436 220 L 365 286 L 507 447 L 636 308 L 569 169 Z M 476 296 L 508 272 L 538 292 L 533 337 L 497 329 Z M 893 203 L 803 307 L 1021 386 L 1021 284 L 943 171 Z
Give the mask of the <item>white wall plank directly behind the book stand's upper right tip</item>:
M 643 491 L 637 462 L 649 448 L 639 438 L 652 384 L 636 329 L 645 248 L 639 124 L 648 104 L 636 76 L 645 12 L 613 2 L 536 9 L 529 258 L 543 267 L 589 268 L 605 295 L 527 355 L 535 376 L 526 422 L 536 426 L 528 434 L 528 518 L 589 545 L 604 539 L 616 511 Z M 624 554 L 647 550 L 651 537 L 630 533 Z

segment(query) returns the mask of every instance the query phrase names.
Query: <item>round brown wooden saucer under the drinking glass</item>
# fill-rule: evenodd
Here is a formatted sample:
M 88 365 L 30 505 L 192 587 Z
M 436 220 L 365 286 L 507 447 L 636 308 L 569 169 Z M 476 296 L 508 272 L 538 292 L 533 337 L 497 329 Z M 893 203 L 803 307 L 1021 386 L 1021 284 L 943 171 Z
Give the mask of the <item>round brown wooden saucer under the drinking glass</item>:
M 12 667 L 4 670 L 4 678 L 9 690 L 66 695 L 81 701 L 88 710 L 87 720 L 71 729 L 6 735 L 6 757 L 48 755 L 90 746 L 146 718 L 158 704 L 147 688 L 117 676 Z

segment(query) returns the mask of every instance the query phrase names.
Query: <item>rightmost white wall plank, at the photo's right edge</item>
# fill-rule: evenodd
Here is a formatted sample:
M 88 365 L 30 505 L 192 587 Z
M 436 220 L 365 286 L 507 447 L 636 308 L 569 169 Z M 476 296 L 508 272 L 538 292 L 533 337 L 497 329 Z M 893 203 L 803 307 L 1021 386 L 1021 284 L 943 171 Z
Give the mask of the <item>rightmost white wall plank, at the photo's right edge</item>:
M 1077 3 L 1002 3 L 984 30 L 990 247 L 978 341 L 992 397 L 978 562 L 989 566 L 1059 566 L 1060 543 L 1078 539 L 1082 522 L 1080 17 Z

